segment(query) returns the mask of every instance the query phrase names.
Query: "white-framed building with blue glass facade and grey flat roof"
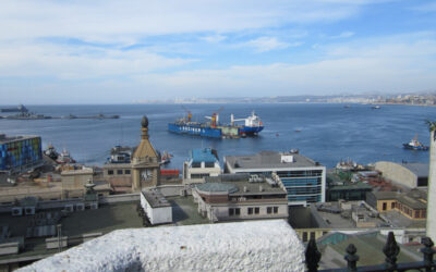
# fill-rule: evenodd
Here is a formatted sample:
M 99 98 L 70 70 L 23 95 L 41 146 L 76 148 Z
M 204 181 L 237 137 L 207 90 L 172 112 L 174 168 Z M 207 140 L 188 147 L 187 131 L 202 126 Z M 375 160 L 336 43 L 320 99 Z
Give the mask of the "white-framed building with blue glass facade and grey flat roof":
M 290 206 L 325 201 L 326 166 L 298 152 L 262 151 L 223 160 L 225 173 L 264 174 L 280 181 Z

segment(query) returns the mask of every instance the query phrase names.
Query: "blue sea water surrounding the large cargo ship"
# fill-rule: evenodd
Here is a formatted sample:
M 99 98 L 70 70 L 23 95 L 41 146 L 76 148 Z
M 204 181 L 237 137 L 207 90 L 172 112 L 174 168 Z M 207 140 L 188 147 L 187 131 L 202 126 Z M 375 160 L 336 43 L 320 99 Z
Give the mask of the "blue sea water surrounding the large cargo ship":
M 149 120 L 150 141 L 158 150 L 174 156 L 170 169 L 182 169 L 192 148 L 211 147 L 221 158 L 252 154 L 262 150 L 299 149 L 303 156 L 332 168 L 340 160 L 359 163 L 380 160 L 428 162 L 428 151 L 411 151 L 403 143 L 419 134 L 424 145 L 429 143 L 426 120 L 436 120 L 436 108 L 382 106 L 373 110 L 367 104 L 287 103 L 287 104 L 186 104 L 194 121 L 220 112 L 220 121 L 246 118 L 254 110 L 265 128 L 258 137 L 209 139 L 167 132 L 167 124 L 186 112 L 178 104 L 114 106 L 26 106 L 29 111 L 51 116 L 68 114 L 119 114 L 118 120 L 0 120 L 0 133 L 7 135 L 39 135 L 43 148 L 52 144 L 58 151 L 68 149 L 78 162 L 102 165 L 116 145 L 135 146 L 141 139 L 141 119 Z

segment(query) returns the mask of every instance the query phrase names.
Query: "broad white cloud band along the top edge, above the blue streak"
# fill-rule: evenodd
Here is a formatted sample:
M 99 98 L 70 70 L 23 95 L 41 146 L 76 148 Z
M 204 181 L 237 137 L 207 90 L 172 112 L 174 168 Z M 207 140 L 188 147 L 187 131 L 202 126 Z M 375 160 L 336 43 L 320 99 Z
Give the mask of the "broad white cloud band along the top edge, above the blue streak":
M 76 37 L 129 41 L 146 35 L 226 33 L 283 23 L 330 22 L 350 17 L 366 2 L 319 0 L 3 0 L 1 39 Z

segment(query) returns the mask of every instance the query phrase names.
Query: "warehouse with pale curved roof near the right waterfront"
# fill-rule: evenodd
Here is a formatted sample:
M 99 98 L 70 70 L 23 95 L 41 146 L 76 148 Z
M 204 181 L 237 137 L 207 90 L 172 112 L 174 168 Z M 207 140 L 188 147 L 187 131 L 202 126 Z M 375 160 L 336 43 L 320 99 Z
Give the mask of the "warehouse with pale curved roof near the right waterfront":
M 382 172 L 385 178 L 408 188 L 427 187 L 428 184 L 427 163 L 378 161 L 375 170 Z

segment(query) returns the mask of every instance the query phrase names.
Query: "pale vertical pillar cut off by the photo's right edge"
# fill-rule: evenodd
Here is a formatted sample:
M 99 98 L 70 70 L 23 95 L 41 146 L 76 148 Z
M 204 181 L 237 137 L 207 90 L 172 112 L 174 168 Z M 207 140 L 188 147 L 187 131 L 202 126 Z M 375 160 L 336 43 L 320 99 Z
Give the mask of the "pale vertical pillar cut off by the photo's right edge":
M 433 128 L 433 127 L 432 127 Z M 436 242 L 436 140 L 435 129 L 429 137 L 429 175 L 428 175 L 428 201 L 427 201 L 427 236 Z

